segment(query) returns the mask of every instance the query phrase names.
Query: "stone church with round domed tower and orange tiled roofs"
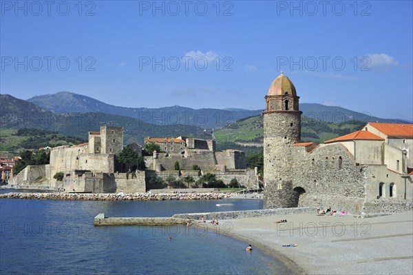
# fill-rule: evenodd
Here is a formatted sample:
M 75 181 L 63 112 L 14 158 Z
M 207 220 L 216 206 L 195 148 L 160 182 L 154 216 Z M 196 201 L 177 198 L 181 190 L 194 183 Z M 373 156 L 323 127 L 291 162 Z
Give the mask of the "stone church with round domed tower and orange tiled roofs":
M 280 74 L 265 101 L 264 208 L 412 208 L 412 124 L 367 123 L 320 145 L 301 143 L 299 96 L 290 79 Z

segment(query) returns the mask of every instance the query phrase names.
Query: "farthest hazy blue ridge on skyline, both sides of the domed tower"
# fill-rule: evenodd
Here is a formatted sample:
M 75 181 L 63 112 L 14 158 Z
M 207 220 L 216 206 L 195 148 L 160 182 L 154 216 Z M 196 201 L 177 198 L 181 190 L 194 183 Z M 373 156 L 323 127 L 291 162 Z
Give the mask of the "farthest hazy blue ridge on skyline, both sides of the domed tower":
M 134 119 L 140 119 L 156 125 L 184 124 L 196 125 L 202 128 L 222 128 L 229 123 L 262 113 L 262 110 L 244 110 L 237 108 L 226 110 L 213 108 L 195 110 L 178 105 L 164 108 L 125 108 L 109 105 L 89 96 L 74 94 L 72 92 L 58 92 L 56 94 L 34 96 L 28 99 L 28 101 L 57 114 L 68 112 L 104 112 L 107 114 L 130 116 Z M 264 96 L 262 105 L 264 108 Z M 388 123 L 406 122 L 397 119 L 382 119 L 377 116 L 371 116 L 368 112 L 355 112 L 346 108 L 318 103 L 300 103 L 299 108 L 303 112 L 303 116 L 326 122 L 342 123 L 354 120 Z

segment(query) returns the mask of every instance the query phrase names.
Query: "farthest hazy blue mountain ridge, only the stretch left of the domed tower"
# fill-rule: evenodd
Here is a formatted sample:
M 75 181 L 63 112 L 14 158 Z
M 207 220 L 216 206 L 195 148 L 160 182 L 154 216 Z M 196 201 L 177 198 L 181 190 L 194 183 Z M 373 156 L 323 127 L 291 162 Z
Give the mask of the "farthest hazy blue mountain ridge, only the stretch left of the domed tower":
M 202 128 L 220 128 L 238 119 L 262 112 L 262 110 L 220 110 L 213 108 L 195 110 L 178 105 L 164 108 L 125 108 L 109 105 L 89 96 L 72 92 L 34 96 L 28 99 L 28 101 L 56 114 L 103 112 L 119 116 L 129 116 L 156 125 L 183 124 L 200 126 Z

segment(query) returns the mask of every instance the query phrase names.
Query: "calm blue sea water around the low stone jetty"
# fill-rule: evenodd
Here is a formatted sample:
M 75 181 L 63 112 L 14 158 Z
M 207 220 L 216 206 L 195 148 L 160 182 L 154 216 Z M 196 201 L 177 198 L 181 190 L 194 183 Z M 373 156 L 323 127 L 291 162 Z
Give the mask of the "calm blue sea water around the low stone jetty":
M 288 274 L 276 258 L 195 227 L 94 227 L 107 216 L 262 208 L 258 200 L 43 201 L 0 199 L 0 274 Z M 228 230 L 228 229 L 226 229 Z M 169 240 L 169 237 L 172 240 Z

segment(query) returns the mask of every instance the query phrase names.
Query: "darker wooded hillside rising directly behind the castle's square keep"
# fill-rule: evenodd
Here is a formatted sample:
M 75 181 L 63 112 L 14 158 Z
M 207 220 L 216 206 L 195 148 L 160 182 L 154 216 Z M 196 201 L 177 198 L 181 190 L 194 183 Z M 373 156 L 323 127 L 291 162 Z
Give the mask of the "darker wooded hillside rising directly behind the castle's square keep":
M 102 125 L 115 125 L 124 128 L 125 144 L 142 144 L 147 136 L 183 135 L 200 139 L 211 138 L 211 134 L 204 131 L 204 128 L 193 125 L 153 125 L 128 116 L 100 112 L 54 114 L 9 95 L 2 95 L 1 103 L 0 128 L 34 128 L 87 139 L 89 131 L 99 131 Z M 3 136 L 3 131 L 0 136 Z

